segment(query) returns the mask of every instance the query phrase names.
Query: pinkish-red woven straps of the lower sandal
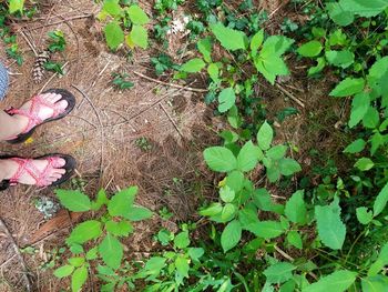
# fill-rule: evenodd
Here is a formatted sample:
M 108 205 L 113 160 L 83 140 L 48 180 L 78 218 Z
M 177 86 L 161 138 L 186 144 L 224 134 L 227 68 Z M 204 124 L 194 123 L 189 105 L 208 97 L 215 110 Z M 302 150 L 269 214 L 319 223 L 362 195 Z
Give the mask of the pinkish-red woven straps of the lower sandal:
M 38 187 L 50 185 L 51 182 L 49 182 L 49 180 L 48 180 L 50 172 L 53 169 L 58 169 L 61 167 L 61 164 L 59 162 L 60 158 L 57 158 L 57 157 L 45 159 L 48 161 L 48 165 L 42 171 L 40 171 L 33 164 L 32 159 L 12 158 L 11 160 L 19 164 L 17 172 L 10 179 L 11 185 L 18 184 L 20 178 L 24 173 L 28 173 L 31 178 L 33 178 L 35 180 L 35 184 Z

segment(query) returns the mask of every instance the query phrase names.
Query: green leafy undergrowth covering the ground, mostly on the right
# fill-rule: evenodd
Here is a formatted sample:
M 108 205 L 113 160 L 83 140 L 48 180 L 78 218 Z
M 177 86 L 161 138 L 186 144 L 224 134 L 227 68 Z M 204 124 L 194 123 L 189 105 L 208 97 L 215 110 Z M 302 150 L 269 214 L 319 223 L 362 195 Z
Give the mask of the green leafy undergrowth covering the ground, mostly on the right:
M 130 54 L 167 47 L 173 13 L 185 2 L 156 0 L 151 17 L 141 1 L 100 1 L 108 48 L 125 46 Z M 183 26 L 195 56 L 177 64 L 162 52 L 151 62 L 154 74 L 171 82 L 204 77 L 203 102 L 227 123 L 219 144 L 203 151 L 216 178 L 214 195 L 201 201 L 197 221 L 181 222 L 176 232 L 161 228 L 154 234 L 160 249 L 134 260 L 121 240 L 139 232 L 133 222 L 157 215 L 134 203 L 136 187 L 115 194 L 101 190 L 94 201 L 76 189 L 57 190 L 64 208 L 93 217 L 69 234 L 54 275 L 71 279 L 72 291 L 88 289 L 91 274 L 101 291 L 387 291 L 388 1 L 294 0 L 288 6 L 308 18 L 284 19 L 277 34 L 266 27 L 268 13 L 257 12 L 251 0 L 233 8 L 222 0 L 192 6 L 195 12 Z M 30 12 L 16 0 L 2 10 L 1 36 L 19 62 L 4 24 L 9 13 Z M 50 51 L 63 49 L 63 34 L 50 37 Z M 314 183 L 297 159 L 298 145 L 277 142 L 282 124 L 298 110 L 273 118 L 270 101 L 256 90 L 282 83 L 294 61 L 305 64 L 305 78 L 331 74 L 337 82 L 326 99 L 349 109 L 340 124 L 347 143 L 341 153 L 310 149 L 320 157 Z M 126 74 L 114 74 L 112 82 L 119 90 L 134 87 Z M 327 154 L 334 159 L 321 162 Z

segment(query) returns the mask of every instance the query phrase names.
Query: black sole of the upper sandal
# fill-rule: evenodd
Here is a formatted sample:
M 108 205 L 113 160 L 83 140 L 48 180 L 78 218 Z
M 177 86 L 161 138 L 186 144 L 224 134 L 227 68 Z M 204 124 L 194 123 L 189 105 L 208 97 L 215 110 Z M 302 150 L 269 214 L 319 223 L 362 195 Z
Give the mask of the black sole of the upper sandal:
M 33 127 L 30 131 L 28 131 L 27 133 L 22 133 L 22 134 L 19 134 L 16 139 L 12 139 L 12 140 L 7 140 L 8 143 L 10 144 L 18 144 L 18 143 L 22 143 L 24 142 L 27 139 L 29 139 L 33 132 L 35 131 L 35 129 L 44 123 L 48 123 L 48 122 L 52 122 L 52 121 L 57 121 L 57 120 L 60 120 L 60 119 L 63 119 L 64 117 L 67 117 L 75 107 L 75 97 L 68 90 L 65 89 L 49 89 L 44 92 L 42 92 L 42 94 L 45 94 L 45 93 L 55 93 L 55 94 L 61 94 L 62 98 L 57 101 L 57 102 L 60 102 L 61 100 L 65 100 L 68 102 L 68 107 L 65 108 L 64 112 L 60 113 L 59 115 L 57 115 L 55 118 L 49 118 L 47 120 L 44 120 L 42 123 L 40 124 L 37 124 L 35 127 Z M 55 103 L 57 103 L 55 102 Z

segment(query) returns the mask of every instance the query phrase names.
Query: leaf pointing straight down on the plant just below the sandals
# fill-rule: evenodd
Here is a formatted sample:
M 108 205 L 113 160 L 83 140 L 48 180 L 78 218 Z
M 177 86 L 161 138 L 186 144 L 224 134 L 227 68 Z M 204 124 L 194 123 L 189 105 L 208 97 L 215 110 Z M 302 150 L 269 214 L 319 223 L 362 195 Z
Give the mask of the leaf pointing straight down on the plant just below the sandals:
M 99 253 L 104 263 L 113 270 L 119 269 L 123 259 L 123 246 L 120 241 L 108 233 L 99 245 Z

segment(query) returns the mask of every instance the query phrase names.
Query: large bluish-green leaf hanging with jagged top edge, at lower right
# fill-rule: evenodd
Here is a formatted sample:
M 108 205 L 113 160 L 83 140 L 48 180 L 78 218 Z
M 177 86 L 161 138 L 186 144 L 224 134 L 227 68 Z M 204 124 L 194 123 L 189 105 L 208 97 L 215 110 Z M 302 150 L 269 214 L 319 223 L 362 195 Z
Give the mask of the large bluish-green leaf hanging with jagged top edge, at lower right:
M 346 226 L 340 220 L 338 198 L 329 205 L 316 205 L 315 218 L 321 242 L 333 250 L 340 250 L 345 241 Z

